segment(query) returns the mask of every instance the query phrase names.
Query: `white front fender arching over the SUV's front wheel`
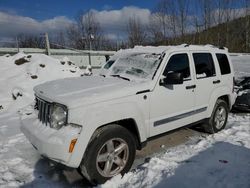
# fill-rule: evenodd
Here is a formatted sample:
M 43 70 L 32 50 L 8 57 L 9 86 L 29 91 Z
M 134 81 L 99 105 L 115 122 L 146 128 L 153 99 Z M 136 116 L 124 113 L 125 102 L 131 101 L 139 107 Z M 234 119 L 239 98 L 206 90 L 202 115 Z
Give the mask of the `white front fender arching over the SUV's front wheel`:
M 128 97 L 122 101 L 114 100 L 93 104 L 84 110 L 81 108 L 74 109 L 70 115 L 75 124 L 83 126 L 69 160 L 69 166 L 71 167 L 80 165 L 92 135 L 96 129 L 103 125 L 123 119 L 133 119 L 137 125 L 140 141 L 145 141 L 148 136 L 146 123 L 149 118 L 148 104 L 143 99 L 140 100 L 139 96 Z

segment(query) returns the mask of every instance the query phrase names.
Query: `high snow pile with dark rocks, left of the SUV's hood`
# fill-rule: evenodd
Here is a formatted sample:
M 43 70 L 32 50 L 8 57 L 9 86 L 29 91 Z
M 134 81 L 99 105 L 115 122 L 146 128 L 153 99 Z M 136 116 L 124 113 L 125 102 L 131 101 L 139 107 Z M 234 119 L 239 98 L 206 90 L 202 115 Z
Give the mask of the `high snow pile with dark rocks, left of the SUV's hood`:
M 16 112 L 34 99 L 37 84 L 80 76 L 80 69 L 68 58 L 56 60 L 44 54 L 0 56 L 0 113 Z

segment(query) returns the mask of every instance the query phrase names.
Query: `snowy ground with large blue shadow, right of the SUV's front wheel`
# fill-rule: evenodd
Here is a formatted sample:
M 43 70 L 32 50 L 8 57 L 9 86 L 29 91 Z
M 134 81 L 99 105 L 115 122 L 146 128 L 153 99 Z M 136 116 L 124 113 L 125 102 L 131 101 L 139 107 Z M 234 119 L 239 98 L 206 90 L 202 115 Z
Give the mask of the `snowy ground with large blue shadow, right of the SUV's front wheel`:
M 231 115 L 220 133 L 192 138 L 100 187 L 250 187 L 249 122 Z

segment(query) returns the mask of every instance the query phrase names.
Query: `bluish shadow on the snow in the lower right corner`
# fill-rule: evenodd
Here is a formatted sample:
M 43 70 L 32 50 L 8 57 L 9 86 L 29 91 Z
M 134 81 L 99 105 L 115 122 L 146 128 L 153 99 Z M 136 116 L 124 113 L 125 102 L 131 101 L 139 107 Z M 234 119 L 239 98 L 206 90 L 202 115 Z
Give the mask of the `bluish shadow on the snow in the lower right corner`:
M 156 187 L 210 188 L 250 187 L 250 150 L 226 142 L 212 147 L 182 161 L 174 175 L 163 180 Z M 164 177 L 165 176 L 165 177 Z

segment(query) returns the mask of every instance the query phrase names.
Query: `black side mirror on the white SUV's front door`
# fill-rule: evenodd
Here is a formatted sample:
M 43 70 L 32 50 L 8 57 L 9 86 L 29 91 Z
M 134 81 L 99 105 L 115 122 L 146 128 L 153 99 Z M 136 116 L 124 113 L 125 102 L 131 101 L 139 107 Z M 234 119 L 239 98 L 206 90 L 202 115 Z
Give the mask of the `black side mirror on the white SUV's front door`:
M 167 73 L 165 78 L 160 80 L 160 85 L 177 85 L 183 84 L 183 74 L 178 72 Z

